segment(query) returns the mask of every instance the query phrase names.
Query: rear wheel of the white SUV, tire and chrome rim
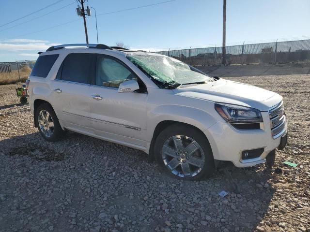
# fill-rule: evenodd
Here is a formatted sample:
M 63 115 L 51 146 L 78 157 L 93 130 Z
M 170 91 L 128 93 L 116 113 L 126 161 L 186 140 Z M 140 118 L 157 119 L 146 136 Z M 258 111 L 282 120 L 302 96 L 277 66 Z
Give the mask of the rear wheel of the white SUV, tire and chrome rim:
M 37 108 L 35 120 L 44 139 L 52 142 L 62 139 L 64 131 L 62 131 L 58 118 L 49 104 L 44 103 Z

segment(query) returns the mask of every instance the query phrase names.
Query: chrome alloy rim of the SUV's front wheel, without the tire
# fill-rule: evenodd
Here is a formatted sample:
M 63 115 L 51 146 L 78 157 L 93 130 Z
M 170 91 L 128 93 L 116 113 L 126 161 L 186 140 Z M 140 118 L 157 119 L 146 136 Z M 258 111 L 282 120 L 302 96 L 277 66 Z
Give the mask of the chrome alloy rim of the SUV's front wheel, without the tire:
M 184 135 L 175 135 L 166 140 L 161 154 L 166 167 L 180 177 L 199 174 L 205 162 L 202 147 Z

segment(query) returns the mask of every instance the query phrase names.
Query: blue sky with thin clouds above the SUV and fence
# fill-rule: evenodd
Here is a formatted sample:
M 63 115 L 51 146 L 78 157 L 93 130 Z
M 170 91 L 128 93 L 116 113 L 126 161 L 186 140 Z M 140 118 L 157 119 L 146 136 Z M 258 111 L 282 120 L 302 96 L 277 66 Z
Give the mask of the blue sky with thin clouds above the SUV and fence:
M 57 1 L 3 1 L 0 25 Z M 102 14 L 97 16 L 99 43 L 115 45 L 116 42 L 124 42 L 130 48 L 151 51 L 220 46 L 222 0 L 173 0 L 105 14 L 163 1 L 167 0 L 88 0 L 85 6 L 94 7 L 97 15 Z M 77 15 L 76 7 L 75 0 L 61 0 L 0 27 L 0 61 L 36 59 L 38 51 L 54 44 L 85 43 L 83 20 Z M 226 43 L 270 42 L 277 38 L 309 39 L 309 9 L 310 0 L 227 0 Z M 52 11 L 55 12 L 50 13 Z M 39 17 L 44 14 L 47 15 Z M 54 27 L 73 20 L 77 21 Z M 87 17 L 87 29 L 89 42 L 96 43 L 94 16 Z

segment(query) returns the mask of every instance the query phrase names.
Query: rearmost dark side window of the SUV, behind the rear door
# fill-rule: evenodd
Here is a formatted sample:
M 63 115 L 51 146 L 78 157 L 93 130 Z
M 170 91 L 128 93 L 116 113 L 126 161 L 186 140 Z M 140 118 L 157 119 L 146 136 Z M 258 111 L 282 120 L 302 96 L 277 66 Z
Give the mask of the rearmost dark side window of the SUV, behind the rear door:
M 46 78 L 58 57 L 58 54 L 39 56 L 32 68 L 31 76 Z

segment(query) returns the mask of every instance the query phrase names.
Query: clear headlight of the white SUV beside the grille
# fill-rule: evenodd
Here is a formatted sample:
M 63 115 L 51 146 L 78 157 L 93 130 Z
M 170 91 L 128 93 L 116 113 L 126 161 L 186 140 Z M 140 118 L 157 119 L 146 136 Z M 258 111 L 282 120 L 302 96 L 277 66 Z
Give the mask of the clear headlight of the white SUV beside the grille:
M 217 113 L 230 123 L 263 122 L 259 110 L 234 104 L 215 103 Z

